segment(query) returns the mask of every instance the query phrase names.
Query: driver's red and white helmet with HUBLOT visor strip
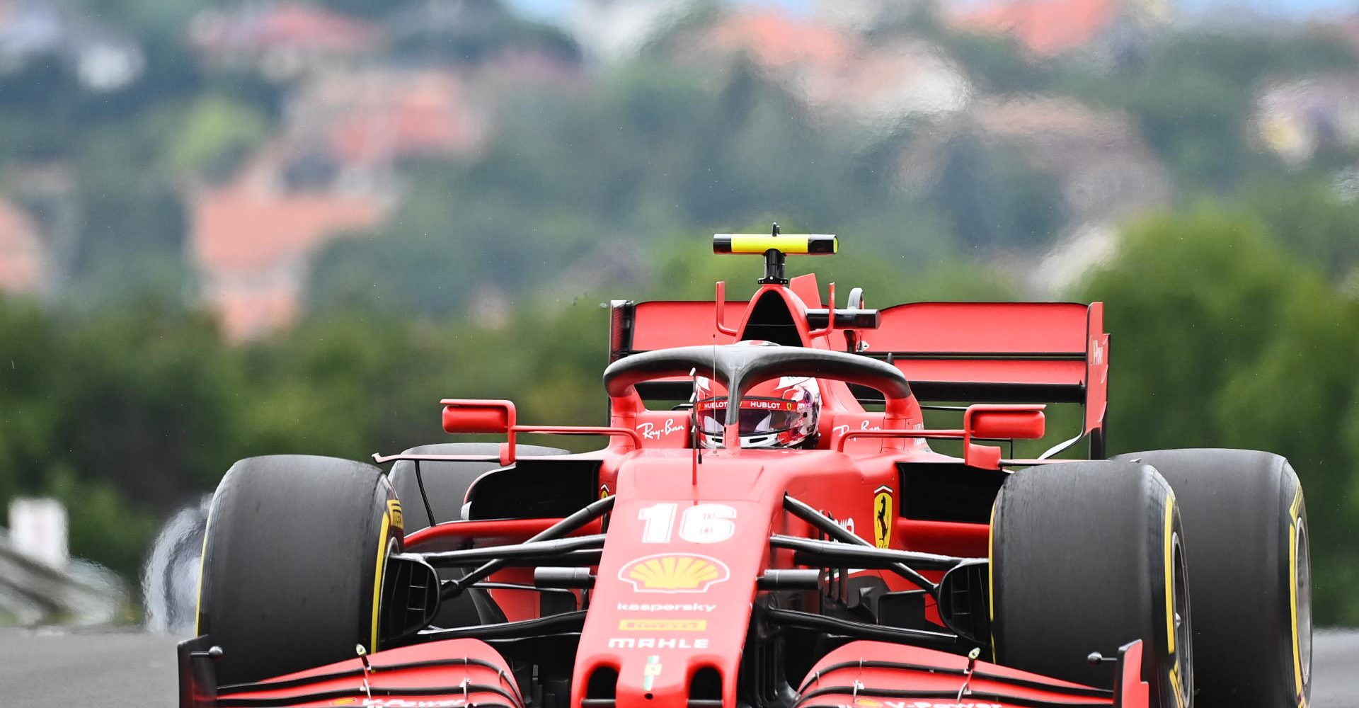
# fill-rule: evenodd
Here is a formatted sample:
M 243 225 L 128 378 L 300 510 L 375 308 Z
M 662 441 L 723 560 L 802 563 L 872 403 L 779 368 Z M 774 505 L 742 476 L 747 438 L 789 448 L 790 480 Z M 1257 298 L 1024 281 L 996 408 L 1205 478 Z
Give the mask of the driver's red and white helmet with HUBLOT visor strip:
M 738 344 L 777 347 L 775 342 L 746 340 Z M 704 447 L 723 447 L 727 420 L 727 387 L 694 378 L 694 413 L 699 440 Z M 741 447 L 811 447 L 817 444 L 821 417 L 821 387 L 807 376 L 783 376 L 760 382 L 741 400 Z

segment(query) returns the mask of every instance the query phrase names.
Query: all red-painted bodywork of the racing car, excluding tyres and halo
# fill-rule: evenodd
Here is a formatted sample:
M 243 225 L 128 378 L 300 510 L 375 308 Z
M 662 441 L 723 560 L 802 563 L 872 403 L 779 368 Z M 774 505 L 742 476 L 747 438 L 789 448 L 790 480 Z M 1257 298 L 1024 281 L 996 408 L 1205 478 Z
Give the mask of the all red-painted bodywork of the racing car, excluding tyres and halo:
M 631 314 L 620 314 L 620 307 L 631 308 Z M 769 325 L 769 313 L 779 315 L 780 307 L 787 315 L 779 321 L 783 323 Z M 794 279 L 788 287 L 764 285 L 749 303 L 726 303 L 720 308 L 726 322 L 719 322 L 719 308 L 712 302 L 616 303 L 610 351 L 618 357 L 671 347 L 722 345 L 738 338 L 766 338 L 750 336 L 769 332 L 790 340 L 784 344 L 817 349 L 844 351 L 847 341 L 862 341 L 862 353 L 879 359 L 890 353 L 890 361 L 917 391 L 1041 393 L 1082 402 L 1086 433 L 1102 427 L 1109 340 L 1102 332 L 1098 303 L 904 304 L 881 311 L 878 329 L 845 330 L 836 328 L 832 317 L 818 330 L 809 323 L 807 310 L 825 307 L 811 276 Z M 686 380 L 670 379 L 681 386 Z M 572 708 L 591 705 L 586 689 L 599 671 L 617 673 L 612 708 L 688 708 L 690 686 L 700 671 L 709 675 L 715 671 L 720 678 L 722 705 L 738 705 L 738 682 L 749 651 L 747 628 L 761 592 L 757 582 L 766 571 L 795 567 L 791 550 L 771 548 L 771 535 L 821 538 L 819 530 L 786 511 L 786 495 L 813 504 L 841 529 L 877 548 L 962 557 L 988 554 L 987 523 L 906 519 L 898 512 L 902 463 L 954 465 L 958 476 L 984 470 L 932 451 L 923 436 L 862 435 L 923 431 L 916 394 L 889 395 L 886 412 L 871 412 L 845 382 L 819 379 L 819 386 L 824 408 L 815 450 L 708 450 L 701 453 L 700 463 L 690 446 L 689 413 L 648 410 L 633 387 L 610 400 L 609 428 L 578 429 L 610 435 L 605 450 L 575 458 L 598 459 L 601 493 L 614 495 L 616 501 L 606 526 L 595 520 L 575 531 L 586 535 L 606 529 L 607 535 L 594 568 L 588 613 L 579 635 L 571 675 Z M 458 431 L 459 425 L 507 428 L 512 438 L 531 429 L 518 425 L 512 406 L 500 402 L 482 408 L 470 401 L 448 404 L 461 406 L 446 412 L 450 431 Z M 1010 427 L 1015 435 L 1029 435 L 1036 425 L 1041 427 L 1041 413 L 1026 416 Z M 512 446 L 514 442 L 508 443 L 510 450 L 501 453 L 503 461 L 514 459 Z M 520 463 L 527 463 L 526 459 Z M 550 465 L 552 459 L 533 458 L 533 463 Z M 514 544 L 559 520 L 448 522 L 408 534 L 405 550 Z M 877 575 L 889 590 L 913 587 L 889 571 L 851 569 L 849 575 Z M 938 580 L 940 572 L 925 575 Z M 507 568 L 489 580 L 531 584 L 534 576 L 531 568 Z M 491 595 L 510 621 L 540 616 L 540 602 L 531 591 L 497 588 Z M 925 603 L 925 617 L 939 624 L 932 601 Z M 1133 650 L 1140 656 L 1140 647 L 1129 654 Z M 463 658 L 477 662 L 458 665 Z M 409 696 L 395 692 L 386 696 L 389 703 L 370 705 L 522 707 L 512 700 L 519 693 L 507 662 L 489 644 L 455 639 L 371 656 L 375 667 L 410 662 L 443 663 L 379 669 L 375 677 L 368 677 L 370 685 L 416 686 L 424 692 Z M 798 705 L 999 708 L 1053 701 L 1144 708 L 1146 684 L 1136 675 L 1140 659 L 1125 663 L 1135 669 L 1131 678 L 1125 677 L 1116 692 L 1101 692 L 980 662 L 970 675 L 970 694 L 964 692 L 959 698 L 966 658 L 912 645 L 852 641 L 818 662 L 799 688 L 803 697 Z M 277 681 L 308 679 L 314 684 L 308 690 L 348 690 L 341 698 L 364 698 L 353 693 L 356 667 L 361 667 L 357 659 L 347 660 Z M 317 678 L 322 674 L 344 675 Z M 499 686 L 500 693 L 434 690 L 462 685 L 463 679 L 469 686 Z M 288 690 L 294 689 L 279 688 L 266 694 L 255 686 L 250 697 L 295 696 Z M 227 696 L 230 692 L 222 697 Z M 395 698 L 413 703 L 393 703 Z M 348 704 L 363 705 L 363 701 Z

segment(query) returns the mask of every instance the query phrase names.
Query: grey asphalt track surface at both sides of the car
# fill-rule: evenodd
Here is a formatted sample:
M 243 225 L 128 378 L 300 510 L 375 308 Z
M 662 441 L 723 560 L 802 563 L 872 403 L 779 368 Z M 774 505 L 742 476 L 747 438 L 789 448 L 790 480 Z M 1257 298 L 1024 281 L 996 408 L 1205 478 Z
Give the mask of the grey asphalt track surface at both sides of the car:
M 173 708 L 175 637 L 0 631 L 0 707 Z M 1318 632 L 1313 708 L 1359 705 L 1359 632 Z

